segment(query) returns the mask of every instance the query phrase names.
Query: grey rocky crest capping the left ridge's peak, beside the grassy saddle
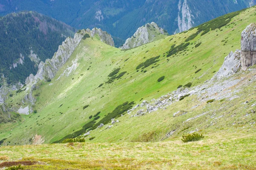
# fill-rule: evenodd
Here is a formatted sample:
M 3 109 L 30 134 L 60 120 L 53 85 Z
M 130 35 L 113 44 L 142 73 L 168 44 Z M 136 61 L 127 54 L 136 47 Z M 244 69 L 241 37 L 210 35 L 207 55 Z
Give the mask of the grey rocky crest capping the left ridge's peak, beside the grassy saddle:
M 92 37 L 94 37 L 95 34 L 98 34 L 100 37 L 100 40 L 108 45 L 115 46 L 113 38 L 110 34 L 108 34 L 106 31 L 102 31 L 101 28 L 93 28 L 92 30 L 86 29 L 87 32 L 91 34 Z

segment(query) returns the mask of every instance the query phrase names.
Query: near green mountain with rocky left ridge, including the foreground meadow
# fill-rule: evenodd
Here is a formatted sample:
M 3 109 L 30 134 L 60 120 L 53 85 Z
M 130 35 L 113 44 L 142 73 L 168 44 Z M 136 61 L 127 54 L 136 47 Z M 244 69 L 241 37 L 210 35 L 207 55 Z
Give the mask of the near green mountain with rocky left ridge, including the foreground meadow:
M 0 168 L 255 169 L 255 20 L 253 6 L 127 50 L 78 31 L 6 93 L 20 117 L 0 123 Z

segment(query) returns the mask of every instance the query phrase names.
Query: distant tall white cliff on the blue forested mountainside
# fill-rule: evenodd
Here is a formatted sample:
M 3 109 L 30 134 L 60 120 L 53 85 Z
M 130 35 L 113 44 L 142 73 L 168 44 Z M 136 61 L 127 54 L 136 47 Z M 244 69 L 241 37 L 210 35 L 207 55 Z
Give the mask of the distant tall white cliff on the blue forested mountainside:
M 180 0 L 178 3 L 178 26 L 179 26 L 179 32 L 186 31 L 190 28 L 192 28 L 192 25 L 194 22 L 192 21 L 192 18 L 194 16 L 191 14 L 191 10 L 189 9 L 189 6 L 187 5 L 187 1 Z

